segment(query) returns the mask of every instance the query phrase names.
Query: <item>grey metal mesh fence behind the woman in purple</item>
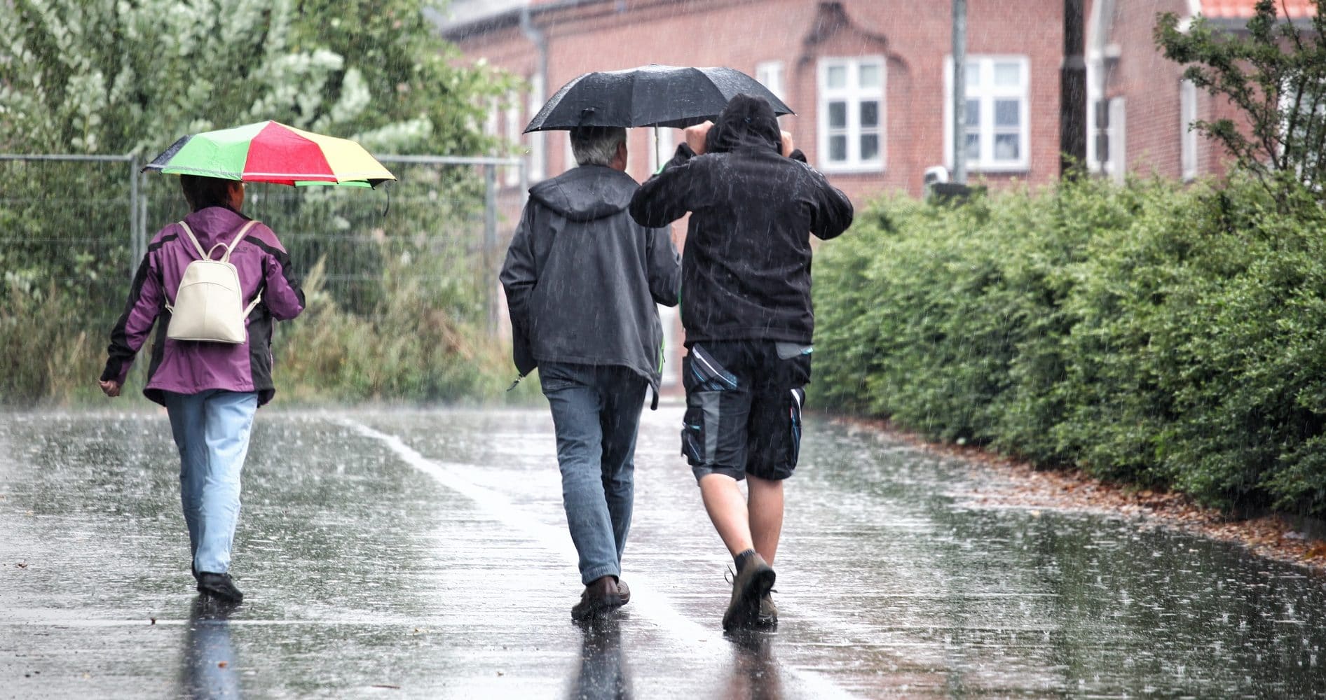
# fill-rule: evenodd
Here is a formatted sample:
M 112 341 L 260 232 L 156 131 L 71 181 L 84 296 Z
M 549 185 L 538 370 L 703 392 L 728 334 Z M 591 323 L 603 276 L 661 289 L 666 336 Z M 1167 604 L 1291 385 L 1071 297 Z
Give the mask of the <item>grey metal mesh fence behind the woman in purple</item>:
M 522 161 L 379 160 L 396 183 L 373 191 L 249 184 L 244 213 L 277 233 L 318 303 L 374 320 L 400 314 L 391 296 L 407 290 L 450 322 L 500 335 L 497 269 L 524 204 Z M 142 173 L 142 164 L 137 156 L 0 155 L 0 352 L 70 355 L 29 357 L 16 372 L 32 377 L 11 376 L 9 390 L 50 396 L 53 376 L 85 378 L 86 357 L 103 359 L 147 242 L 188 213 L 178 179 Z

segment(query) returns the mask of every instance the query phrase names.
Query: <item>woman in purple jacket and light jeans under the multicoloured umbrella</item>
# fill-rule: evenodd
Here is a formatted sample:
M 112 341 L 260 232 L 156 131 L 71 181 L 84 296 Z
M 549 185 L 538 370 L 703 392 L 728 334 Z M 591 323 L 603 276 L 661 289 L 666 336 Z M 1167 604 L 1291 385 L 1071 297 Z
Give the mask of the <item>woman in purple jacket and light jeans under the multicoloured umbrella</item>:
M 156 232 L 149 243 L 125 312 L 110 333 L 101 389 L 106 396 L 119 396 L 134 356 L 160 320 L 143 394 L 166 406 L 179 447 L 191 570 L 199 591 L 237 603 L 244 594 L 235 586 L 229 568 L 240 511 L 240 471 L 253 413 L 274 393 L 273 322 L 298 316 L 304 292 L 272 229 L 240 213 L 241 183 L 182 175 L 180 188 L 192 213 Z M 211 259 L 216 247 L 229 250 L 227 259 L 239 275 L 243 307 L 249 310 L 247 333 L 241 333 L 247 337 L 239 343 L 167 337 L 184 269 L 204 257 Z

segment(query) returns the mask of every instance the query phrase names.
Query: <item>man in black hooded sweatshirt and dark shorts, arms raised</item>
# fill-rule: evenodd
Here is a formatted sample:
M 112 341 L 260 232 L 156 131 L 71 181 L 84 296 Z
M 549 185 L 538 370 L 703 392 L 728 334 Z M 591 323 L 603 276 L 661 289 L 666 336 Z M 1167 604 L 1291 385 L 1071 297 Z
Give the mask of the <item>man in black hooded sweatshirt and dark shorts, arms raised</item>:
M 712 127 L 687 130 L 630 212 L 643 226 L 691 213 L 682 453 L 737 568 L 723 627 L 774 623 L 782 480 L 797 466 L 810 381 L 810 234 L 846 230 L 851 202 L 792 151 L 768 102 L 737 95 Z

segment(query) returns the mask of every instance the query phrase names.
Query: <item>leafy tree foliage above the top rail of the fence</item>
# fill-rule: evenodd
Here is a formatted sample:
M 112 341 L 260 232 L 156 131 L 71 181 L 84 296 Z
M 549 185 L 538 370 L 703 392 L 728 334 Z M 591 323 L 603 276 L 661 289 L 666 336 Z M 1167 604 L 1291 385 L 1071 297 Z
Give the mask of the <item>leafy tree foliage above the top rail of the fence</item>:
M 155 155 L 263 119 L 377 152 L 479 153 L 509 79 L 461 67 L 419 0 L 15 0 L 0 147 Z

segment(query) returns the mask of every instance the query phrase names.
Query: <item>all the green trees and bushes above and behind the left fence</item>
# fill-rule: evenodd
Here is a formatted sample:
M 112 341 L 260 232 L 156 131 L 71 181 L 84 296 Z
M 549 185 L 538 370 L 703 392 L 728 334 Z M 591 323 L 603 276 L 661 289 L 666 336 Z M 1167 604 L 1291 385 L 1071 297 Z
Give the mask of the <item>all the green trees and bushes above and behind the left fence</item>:
M 0 152 L 141 163 L 184 134 L 264 119 L 377 153 L 491 152 L 500 144 L 479 124 L 513 81 L 463 65 L 422 5 L 0 0 Z M 496 384 L 485 287 L 475 283 L 483 181 L 463 165 L 391 169 L 400 181 L 385 193 L 249 188 L 245 212 L 278 232 L 297 273 L 325 261 L 328 284 L 301 322 L 316 327 L 294 324 L 276 353 L 286 364 L 292 348 L 328 361 L 294 364 L 289 380 L 309 386 L 288 394 L 354 388 L 343 396 L 440 400 Z M 0 351 L 13 359 L 0 376 L 5 401 L 61 401 L 94 386 L 137 267 L 131 204 L 149 232 L 186 213 L 170 177 L 138 180 L 131 200 L 131 171 L 126 161 L 0 161 Z M 427 348 L 411 345 L 418 333 Z M 317 339 L 316 353 L 305 337 Z M 383 349 L 391 361 L 378 357 L 391 381 L 365 369 L 382 337 L 395 339 Z

